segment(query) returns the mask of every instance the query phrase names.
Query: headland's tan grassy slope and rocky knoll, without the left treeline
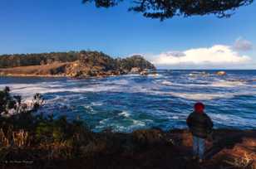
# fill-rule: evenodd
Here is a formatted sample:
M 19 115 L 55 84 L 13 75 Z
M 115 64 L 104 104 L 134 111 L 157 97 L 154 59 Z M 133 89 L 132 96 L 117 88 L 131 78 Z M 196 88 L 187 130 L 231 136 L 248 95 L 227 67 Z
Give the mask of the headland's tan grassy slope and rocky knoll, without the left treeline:
M 26 56 L 24 56 L 26 57 Z M 29 65 L 0 69 L 0 75 L 15 76 L 68 76 L 68 77 L 103 77 L 111 75 L 140 74 L 145 69 L 155 70 L 155 66 L 142 56 L 131 56 L 126 59 L 113 59 L 101 52 L 83 51 L 70 62 L 49 61 L 42 65 Z M 39 58 L 40 59 L 40 58 Z M 50 63 L 50 64 L 49 64 Z M 144 75 L 144 74 L 143 74 Z

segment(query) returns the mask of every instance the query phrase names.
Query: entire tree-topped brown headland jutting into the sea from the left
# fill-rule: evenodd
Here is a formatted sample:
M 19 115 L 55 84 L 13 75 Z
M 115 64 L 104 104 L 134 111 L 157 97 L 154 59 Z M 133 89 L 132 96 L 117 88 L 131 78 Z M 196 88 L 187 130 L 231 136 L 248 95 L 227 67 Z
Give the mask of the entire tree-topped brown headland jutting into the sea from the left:
M 155 65 L 143 56 L 113 59 L 97 51 L 0 56 L 0 75 L 10 76 L 104 77 L 148 69 Z

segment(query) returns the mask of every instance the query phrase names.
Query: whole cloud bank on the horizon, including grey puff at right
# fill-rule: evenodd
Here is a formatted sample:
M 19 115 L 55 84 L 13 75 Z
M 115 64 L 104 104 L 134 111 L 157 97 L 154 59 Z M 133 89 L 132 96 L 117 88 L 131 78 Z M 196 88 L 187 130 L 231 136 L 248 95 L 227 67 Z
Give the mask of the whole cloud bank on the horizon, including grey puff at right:
M 145 55 L 158 68 L 165 69 L 251 69 L 254 60 L 239 51 L 250 51 L 249 41 L 239 38 L 234 46 L 214 45 L 186 51 L 167 51 L 157 55 Z

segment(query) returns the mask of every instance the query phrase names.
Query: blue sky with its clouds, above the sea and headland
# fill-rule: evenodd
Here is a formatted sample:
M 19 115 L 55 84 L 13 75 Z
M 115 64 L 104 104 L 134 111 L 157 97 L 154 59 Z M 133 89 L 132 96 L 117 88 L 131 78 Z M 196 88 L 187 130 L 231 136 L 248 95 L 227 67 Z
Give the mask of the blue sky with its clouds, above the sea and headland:
M 256 2 L 240 7 L 231 18 L 175 17 L 165 22 L 127 12 L 125 3 L 96 9 L 81 0 L 0 0 L 0 7 L 1 54 L 90 49 L 110 56 L 143 54 L 160 66 L 256 69 Z M 202 59 L 199 50 L 220 61 Z M 177 52 L 182 55 L 175 56 Z M 222 60 L 226 55 L 229 59 Z

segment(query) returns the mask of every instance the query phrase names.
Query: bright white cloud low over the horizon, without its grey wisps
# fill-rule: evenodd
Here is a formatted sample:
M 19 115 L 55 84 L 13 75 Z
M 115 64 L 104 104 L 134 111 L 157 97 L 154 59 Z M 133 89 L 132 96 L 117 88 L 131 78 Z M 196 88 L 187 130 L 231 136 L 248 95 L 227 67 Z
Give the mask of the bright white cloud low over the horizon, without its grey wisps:
M 156 66 L 180 68 L 227 68 L 249 63 L 249 56 L 241 56 L 231 46 L 215 45 L 209 48 L 195 48 L 187 51 L 168 51 L 147 56 Z

